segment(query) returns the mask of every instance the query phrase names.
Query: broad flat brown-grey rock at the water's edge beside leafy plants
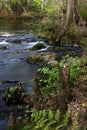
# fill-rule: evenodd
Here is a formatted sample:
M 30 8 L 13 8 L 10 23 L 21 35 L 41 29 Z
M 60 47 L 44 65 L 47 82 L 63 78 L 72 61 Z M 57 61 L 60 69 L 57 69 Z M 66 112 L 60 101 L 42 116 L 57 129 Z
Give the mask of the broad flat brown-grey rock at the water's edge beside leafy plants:
M 36 63 L 39 65 L 51 65 L 57 66 L 58 65 L 58 55 L 53 52 L 40 52 L 30 54 L 27 57 L 28 63 Z

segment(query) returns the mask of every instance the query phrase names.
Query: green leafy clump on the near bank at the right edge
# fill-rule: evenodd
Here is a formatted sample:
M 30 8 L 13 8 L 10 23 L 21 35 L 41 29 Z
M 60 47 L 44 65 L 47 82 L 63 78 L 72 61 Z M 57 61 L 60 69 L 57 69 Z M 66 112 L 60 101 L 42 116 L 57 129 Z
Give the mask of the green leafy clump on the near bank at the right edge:
M 86 76 L 82 76 L 82 74 L 86 73 L 87 58 L 78 58 L 78 57 L 69 57 L 64 56 L 60 61 L 60 66 L 64 69 L 70 70 L 70 80 L 72 83 L 76 84 L 79 80 L 85 81 Z

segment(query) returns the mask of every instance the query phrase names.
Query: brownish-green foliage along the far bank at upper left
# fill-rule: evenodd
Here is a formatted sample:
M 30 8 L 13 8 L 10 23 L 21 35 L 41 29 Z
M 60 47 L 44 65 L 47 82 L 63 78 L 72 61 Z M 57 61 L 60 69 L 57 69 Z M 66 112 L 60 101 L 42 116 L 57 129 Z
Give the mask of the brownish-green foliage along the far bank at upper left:
M 40 9 L 41 3 L 39 0 L 1 0 L 0 9 L 5 9 L 10 13 L 16 14 L 18 17 L 22 13 L 27 13 L 30 10 L 38 11 Z

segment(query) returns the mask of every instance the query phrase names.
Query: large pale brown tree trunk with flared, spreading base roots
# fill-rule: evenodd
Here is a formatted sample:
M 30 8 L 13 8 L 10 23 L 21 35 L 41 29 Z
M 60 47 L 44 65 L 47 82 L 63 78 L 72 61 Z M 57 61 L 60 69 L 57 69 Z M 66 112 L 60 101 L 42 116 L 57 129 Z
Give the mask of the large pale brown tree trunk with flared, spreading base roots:
M 63 35 L 68 30 L 69 26 L 74 23 L 75 25 L 84 26 L 86 22 L 81 17 L 78 11 L 78 0 L 66 0 L 67 12 L 66 12 L 66 22 L 62 31 L 58 34 L 58 41 L 61 40 Z

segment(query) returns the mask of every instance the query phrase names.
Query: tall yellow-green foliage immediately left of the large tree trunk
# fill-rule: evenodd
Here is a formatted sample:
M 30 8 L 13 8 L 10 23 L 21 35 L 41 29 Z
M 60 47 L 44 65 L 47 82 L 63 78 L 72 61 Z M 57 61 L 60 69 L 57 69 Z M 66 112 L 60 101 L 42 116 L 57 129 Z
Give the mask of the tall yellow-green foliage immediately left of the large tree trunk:
M 66 9 L 65 0 L 50 1 L 44 7 L 45 17 L 43 18 L 43 29 L 50 34 L 49 40 L 56 42 L 57 32 L 61 30 L 64 22 L 64 10 Z

